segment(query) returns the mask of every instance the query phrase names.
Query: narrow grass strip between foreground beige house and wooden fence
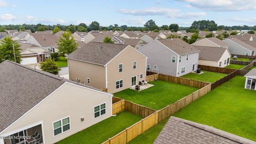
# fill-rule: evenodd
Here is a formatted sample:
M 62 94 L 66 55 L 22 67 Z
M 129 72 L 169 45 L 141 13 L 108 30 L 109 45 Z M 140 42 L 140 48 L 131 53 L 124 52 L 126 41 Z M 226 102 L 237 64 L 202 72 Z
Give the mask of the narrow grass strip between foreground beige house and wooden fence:
M 142 117 L 123 111 L 117 116 L 110 117 L 97 123 L 87 129 L 71 135 L 61 140 L 58 144 L 63 143 L 102 143 L 108 138 L 115 136 L 117 133 L 125 130 L 127 127 L 139 122 Z

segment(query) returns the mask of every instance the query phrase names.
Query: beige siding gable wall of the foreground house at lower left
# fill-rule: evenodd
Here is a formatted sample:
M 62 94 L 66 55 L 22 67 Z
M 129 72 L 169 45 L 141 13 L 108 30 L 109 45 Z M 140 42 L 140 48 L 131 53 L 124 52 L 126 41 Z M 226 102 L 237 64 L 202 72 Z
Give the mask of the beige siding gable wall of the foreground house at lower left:
M 94 106 L 104 102 L 106 102 L 106 114 L 94 118 Z M 110 116 L 111 96 L 109 94 L 65 83 L 6 129 L 3 135 L 42 121 L 44 143 L 55 143 Z M 70 130 L 54 137 L 53 122 L 66 117 L 70 117 Z M 82 117 L 83 122 L 81 122 Z

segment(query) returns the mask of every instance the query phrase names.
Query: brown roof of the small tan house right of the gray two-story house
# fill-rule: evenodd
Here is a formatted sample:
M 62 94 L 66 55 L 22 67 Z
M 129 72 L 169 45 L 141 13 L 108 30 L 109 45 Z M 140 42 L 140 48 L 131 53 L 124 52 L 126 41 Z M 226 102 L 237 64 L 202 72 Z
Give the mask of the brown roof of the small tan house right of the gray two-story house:
M 221 47 L 209 47 L 209 46 L 194 46 L 199 52 L 199 59 L 219 61 L 222 55 L 227 50 Z M 231 55 L 230 55 L 231 57 Z

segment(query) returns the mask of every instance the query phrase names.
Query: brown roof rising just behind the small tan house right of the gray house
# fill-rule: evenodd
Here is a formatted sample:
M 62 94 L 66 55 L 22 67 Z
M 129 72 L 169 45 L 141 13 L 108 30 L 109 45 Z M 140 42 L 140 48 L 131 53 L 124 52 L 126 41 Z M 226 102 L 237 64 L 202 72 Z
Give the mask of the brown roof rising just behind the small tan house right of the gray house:
M 219 38 L 216 37 L 197 39 L 197 41 L 191 45 L 228 48 L 227 43 L 221 41 Z

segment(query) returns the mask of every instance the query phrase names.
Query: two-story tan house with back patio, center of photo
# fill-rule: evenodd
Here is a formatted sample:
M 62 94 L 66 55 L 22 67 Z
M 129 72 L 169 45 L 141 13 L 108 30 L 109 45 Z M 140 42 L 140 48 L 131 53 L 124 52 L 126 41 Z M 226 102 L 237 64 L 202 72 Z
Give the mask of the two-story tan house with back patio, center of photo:
M 146 80 L 147 57 L 130 45 L 90 42 L 67 59 L 71 80 L 110 93 Z

